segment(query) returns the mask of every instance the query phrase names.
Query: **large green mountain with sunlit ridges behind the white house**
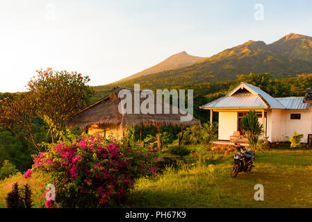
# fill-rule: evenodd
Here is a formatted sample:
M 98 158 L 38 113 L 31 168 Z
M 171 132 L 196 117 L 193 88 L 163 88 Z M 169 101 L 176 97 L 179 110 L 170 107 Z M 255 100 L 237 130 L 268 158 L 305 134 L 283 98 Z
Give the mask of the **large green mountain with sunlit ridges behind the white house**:
M 293 33 L 272 44 L 249 40 L 188 67 L 131 78 L 118 85 L 133 87 L 140 83 L 142 87 L 156 88 L 233 80 L 238 74 L 270 73 L 275 78 L 286 78 L 311 73 L 311 40 L 312 37 Z

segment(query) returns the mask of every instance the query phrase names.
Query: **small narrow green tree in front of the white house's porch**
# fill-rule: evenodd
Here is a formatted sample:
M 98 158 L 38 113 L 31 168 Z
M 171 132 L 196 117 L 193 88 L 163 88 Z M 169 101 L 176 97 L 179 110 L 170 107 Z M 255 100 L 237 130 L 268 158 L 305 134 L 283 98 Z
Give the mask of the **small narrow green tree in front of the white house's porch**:
M 263 126 L 258 121 L 256 111 L 250 110 L 242 119 L 243 130 L 245 130 L 248 137 L 248 144 L 250 148 L 255 149 L 258 143 L 258 138 L 263 133 Z

